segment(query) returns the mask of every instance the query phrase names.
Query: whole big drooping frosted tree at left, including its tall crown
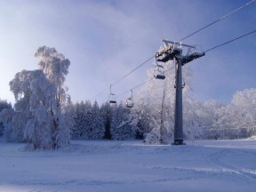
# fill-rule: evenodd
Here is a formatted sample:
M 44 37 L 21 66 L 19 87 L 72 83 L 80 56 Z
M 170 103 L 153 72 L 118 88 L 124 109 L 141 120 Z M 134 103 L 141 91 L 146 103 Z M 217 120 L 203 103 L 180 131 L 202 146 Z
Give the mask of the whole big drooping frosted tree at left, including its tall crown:
M 22 70 L 10 82 L 16 100 L 15 114 L 8 126 L 12 129 L 10 135 L 14 140 L 27 141 L 33 148 L 67 146 L 70 124 L 63 112 L 68 95 L 62 85 L 70 62 L 54 48 L 45 46 L 37 50 L 36 57 L 41 59 L 41 69 Z

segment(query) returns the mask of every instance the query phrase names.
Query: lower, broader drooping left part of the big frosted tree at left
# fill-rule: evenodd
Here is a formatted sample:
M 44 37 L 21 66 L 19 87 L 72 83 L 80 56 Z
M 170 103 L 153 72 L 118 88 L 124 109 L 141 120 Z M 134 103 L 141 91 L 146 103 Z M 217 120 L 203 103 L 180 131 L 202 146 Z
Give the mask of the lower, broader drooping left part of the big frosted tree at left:
M 12 122 L 20 127 L 20 137 L 23 136 L 23 140 L 32 143 L 33 148 L 59 146 L 57 135 L 60 132 L 56 129 L 60 123 L 56 117 L 57 90 L 49 83 L 44 72 L 23 70 L 16 74 L 10 86 L 16 100 L 14 108 L 17 112 Z

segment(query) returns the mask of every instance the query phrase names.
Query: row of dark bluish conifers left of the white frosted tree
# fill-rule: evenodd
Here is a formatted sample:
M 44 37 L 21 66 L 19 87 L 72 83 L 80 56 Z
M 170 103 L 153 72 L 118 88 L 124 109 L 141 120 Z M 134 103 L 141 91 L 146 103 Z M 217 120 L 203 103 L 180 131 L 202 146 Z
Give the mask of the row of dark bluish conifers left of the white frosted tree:
M 142 138 L 142 132 L 132 124 L 132 111 L 122 103 L 106 102 L 100 107 L 97 101 L 81 101 L 72 105 L 74 126 L 72 139 L 82 140 L 132 140 Z

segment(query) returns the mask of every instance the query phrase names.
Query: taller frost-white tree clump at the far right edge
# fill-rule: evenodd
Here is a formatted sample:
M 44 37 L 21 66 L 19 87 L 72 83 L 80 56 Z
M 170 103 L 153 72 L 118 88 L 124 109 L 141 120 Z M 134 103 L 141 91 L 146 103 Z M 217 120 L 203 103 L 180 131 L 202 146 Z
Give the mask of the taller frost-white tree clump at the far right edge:
M 256 89 L 236 92 L 227 106 L 216 110 L 212 135 L 215 138 L 246 138 L 256 131 Z

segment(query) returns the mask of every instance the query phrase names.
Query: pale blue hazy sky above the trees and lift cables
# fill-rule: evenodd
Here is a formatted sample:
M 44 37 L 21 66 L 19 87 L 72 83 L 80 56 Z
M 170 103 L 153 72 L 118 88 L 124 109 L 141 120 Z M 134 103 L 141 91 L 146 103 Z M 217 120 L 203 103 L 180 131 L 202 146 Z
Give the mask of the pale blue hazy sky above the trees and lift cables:
M 161 39 L 179 40 L 250 0 L 2 0 L 0 1 L 0 98 L 14 101 L 9 82 L 36 69 L 36 49 L 55 47 L 70 61 L 66 84 L 74 102 L 108 100 L 109 84 L 154 55 Z M 256 3 L 221 20 L 184 44 L 204 50 L 256 29 Z M 228 102 L 256 87 L 256 34 L 189 63 L 193 97 Z M 116 95 L 144 81 L 154 60 L 113 87 Z

